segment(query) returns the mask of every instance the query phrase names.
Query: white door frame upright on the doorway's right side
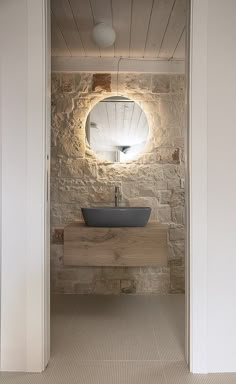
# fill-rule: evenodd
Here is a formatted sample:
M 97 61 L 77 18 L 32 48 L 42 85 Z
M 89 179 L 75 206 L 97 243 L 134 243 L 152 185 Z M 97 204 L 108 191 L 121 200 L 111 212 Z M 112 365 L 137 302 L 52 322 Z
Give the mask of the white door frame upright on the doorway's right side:
M 208 0 L 190 1 L 186 322 L 193 373 L 207 373 L 207 10 Z

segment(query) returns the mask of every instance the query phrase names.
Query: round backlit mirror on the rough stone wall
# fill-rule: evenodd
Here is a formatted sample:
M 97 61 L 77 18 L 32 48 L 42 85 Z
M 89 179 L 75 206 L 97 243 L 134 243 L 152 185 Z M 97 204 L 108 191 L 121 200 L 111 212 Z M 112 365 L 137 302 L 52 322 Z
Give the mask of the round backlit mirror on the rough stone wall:
M 87 142 L 96 155 L 111 162 L 137 157 L 148 137 L 148 121 L 142 108 L 125 97 L 108 97 L 97 103 L 86 121 Z

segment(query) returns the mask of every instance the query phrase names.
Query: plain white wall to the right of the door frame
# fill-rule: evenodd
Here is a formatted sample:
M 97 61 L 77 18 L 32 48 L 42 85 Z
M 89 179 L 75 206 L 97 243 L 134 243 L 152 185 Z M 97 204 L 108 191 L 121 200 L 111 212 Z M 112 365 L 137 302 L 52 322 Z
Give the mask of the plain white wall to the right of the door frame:
M 209 371 L 236 371 L 236 1 L 209 0 L 207 54 Z

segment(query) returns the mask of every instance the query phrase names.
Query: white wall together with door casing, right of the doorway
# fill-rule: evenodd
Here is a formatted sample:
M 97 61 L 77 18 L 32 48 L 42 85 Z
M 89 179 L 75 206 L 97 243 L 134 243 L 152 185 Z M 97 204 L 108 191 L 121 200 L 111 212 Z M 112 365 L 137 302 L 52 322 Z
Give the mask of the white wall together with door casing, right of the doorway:
M 236 1 L 191 3 L 190 370 L 236 372 Z

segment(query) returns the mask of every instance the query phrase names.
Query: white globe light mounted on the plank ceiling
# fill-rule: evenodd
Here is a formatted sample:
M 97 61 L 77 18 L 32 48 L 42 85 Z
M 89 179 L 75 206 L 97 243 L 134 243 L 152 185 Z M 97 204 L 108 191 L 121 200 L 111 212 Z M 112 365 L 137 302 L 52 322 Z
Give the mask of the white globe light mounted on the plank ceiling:
M 116 33 L 110 25 L 99 23 L 93 28 L 92 39 L 99 48 L 108 48 L 114 44 Z

